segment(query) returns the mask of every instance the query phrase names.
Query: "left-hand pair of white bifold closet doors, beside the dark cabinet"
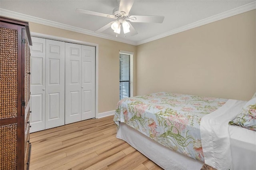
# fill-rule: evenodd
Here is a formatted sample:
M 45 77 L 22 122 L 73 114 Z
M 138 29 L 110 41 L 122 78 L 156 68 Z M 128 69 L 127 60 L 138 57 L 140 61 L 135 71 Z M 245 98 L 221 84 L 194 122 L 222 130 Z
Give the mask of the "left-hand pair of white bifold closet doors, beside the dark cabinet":
M 36 37 L 32 42 L 30 132 L 36 132 L 64 125 L 65 43 Z

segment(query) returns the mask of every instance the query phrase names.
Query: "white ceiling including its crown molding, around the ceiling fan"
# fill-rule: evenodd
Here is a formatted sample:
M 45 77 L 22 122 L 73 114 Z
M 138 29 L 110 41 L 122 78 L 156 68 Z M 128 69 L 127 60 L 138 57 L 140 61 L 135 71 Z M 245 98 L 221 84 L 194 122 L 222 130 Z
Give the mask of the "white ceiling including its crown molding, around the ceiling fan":
M 0 15 L 138 45 L 255 9 L 256 1 L 135 0 L 130 15 L 164 16 L 164 22 L 132 23 L 138 34 L 130 37 L 115 37 L 111 28 L 95 33 L 113 19 L 75 12 L 76 8 L 82 8 L 112 14 L 116 6 L 118 0 L 0 0 Z

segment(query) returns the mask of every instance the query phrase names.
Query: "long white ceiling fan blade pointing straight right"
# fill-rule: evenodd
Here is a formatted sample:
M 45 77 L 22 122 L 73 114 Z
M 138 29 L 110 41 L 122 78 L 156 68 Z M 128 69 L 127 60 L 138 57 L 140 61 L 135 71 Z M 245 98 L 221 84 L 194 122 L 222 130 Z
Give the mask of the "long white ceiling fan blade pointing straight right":
M 143 16 L 143 15 L 132 15 L 126 20 L 130 22 L 152 22 L 152 23 L 162 23 L 164 21 L 164 16 Z

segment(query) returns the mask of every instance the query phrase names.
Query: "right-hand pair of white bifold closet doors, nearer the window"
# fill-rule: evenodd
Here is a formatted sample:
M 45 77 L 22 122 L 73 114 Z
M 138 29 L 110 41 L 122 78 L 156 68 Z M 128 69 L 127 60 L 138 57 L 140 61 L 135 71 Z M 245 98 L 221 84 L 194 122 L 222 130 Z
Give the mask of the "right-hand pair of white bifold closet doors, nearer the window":
M 95 47 L 66 43 L 65 123 L 95 117 Z

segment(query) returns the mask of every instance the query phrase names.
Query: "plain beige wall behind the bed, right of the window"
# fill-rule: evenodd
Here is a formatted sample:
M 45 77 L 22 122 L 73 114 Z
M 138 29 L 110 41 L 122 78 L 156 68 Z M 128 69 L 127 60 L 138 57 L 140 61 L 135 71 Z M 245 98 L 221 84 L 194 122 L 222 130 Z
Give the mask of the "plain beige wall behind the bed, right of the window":
M 256 10 L 137 46 L 137 95 L 248 100 L 256 91 Z

